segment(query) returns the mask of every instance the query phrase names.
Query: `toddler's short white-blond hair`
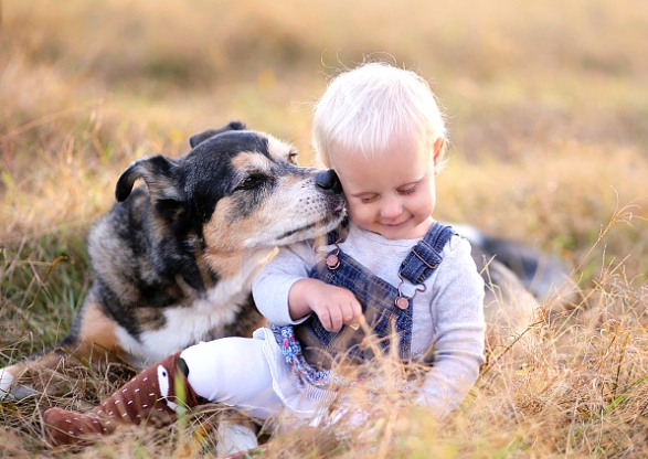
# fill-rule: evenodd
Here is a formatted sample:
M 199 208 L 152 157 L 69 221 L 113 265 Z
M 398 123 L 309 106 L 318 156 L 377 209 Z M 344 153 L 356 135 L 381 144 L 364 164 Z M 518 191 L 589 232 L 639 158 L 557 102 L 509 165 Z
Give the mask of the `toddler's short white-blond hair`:
M 412 71 L 383 62 L 362 64 L 336 76 L 315 105 L 312 147 L 323 166 L 339 145 L 372 158 L 386 150 L 394 136 L 417 138 L 432 158 L 446 126 L 429 84 Z

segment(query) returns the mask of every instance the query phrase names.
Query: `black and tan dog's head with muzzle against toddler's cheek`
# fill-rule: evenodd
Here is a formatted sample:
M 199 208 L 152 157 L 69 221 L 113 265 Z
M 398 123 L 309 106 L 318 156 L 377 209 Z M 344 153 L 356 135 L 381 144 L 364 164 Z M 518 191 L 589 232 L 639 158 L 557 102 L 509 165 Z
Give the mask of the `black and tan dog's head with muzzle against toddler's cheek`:
M 198 134 L 180 159 L 136 161 L 116 186 L 119 202 L 138 179 L 148 188 L 149 221 L 176 255 L 191 243 L 210 257 L 314 238 L 346 214 L 332 171 L 298 167 L 295 149 L 240 122 Z M 195 254 L 194 254 L 195 255 Z

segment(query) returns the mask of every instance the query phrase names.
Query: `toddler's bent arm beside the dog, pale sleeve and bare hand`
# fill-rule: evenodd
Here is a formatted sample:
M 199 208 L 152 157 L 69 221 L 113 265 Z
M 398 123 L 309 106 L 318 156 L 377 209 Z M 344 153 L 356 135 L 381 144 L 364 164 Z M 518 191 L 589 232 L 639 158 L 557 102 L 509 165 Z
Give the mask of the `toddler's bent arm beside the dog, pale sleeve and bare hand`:
M 362 321 L 362 308 L 353 293 L 308 278 L 315 265 L 310 244 L 294 244 L 279 249 L 253 285 L 262 314 L 277 325 L 302 322 L 315 312 L 329 331 Z

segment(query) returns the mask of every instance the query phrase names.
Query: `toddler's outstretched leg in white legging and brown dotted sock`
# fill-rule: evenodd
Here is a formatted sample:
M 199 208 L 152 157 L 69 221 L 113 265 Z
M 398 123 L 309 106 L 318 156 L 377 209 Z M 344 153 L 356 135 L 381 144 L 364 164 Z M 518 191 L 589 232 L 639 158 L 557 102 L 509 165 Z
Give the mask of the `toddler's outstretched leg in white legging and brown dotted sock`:
M 89 413 L 51 408 L 43 418 L 54 445 L 75 444 L 110 434 L 117 424 L 168 425 L 179 410 L 206 402 L 264 419 L 278 413 L 263 341 L 225 338 L 198 344 L 149 366 Z

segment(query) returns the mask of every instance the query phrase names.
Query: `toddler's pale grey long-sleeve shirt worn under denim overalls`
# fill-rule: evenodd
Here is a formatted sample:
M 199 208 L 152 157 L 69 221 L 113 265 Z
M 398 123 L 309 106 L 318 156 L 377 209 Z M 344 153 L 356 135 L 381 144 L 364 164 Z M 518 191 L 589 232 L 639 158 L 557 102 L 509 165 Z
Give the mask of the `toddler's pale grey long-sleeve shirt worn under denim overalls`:
M 374 275 L 399 286 L 399 267 L 418 239 L 387 239 L 351 224 L 340 248 Z M 333 246 L 314 247 L 312 242 L 279 249 L 253 286 L 254 299 L 268 321 L 296 324 L 288 310 L 288 292 L 308 277 L 320 257 Z M 470 257 L 470 245 L 453 236 L 443 250 L 443 263 L 413 301 L 412 354 L 422 355 L 434 344 L 434 365 L 425 374 L 415 397 L 438 418 L 457 407 L 479 374 L 484 359 L 484 280 Z M 403 295 L 414 295 L 405 282 Z

